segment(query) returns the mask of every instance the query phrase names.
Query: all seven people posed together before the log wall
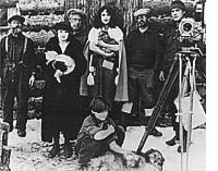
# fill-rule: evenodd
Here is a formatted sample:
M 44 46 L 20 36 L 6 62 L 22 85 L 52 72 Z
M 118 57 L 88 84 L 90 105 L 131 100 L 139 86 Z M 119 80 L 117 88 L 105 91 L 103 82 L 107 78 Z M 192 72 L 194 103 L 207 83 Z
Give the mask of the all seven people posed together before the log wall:
M 121 148 L 124 132 L 111 119 L 116 102 L 132 103 L 132 112 L 143 121 L 144 109 L 156 105 L 156 81 L 165 81 L 180 46 L 178 26 L 185 15 L 185 5 L 173 1 L 170 5 L 172 20 L 166 24 L 164 39 L 149 25 L 150 9 L 134 12 L 136 29 L 124 37 L 114 10 L 105 5 L 98 10 L 93 27 L 83 27 L 86 14 L 78 9 L 66 12 L 68 22 L 57 23 L 56 36 L 46 45 L 45 80 L 43 96 L 41 139 L 53 143 L 49 157 L 60 151 L 60 134 L 64 136 L 64 156 L 72 155 L 71 141 L 76 139 L 75 152 L 82 163 L 112 150 L 130 154 Z M 28 86 L 36 74 L 34 44 L 22 34 L 24 17 L 14 15 L 8 21 L 11 32 L 1 39 L 1 77 L 3 121 L 13 130 L 14 97 L 17 99 L 17 135 L 26 136 Z M 178 95 L 174 84 L 167 103 L 175 136 L 167 142 L 179 141 L 179 123 L 173 100 Z M 77 113 L 81 96 L 87 97 L 89 113 Z M 140 108 L 138 106 L 140 99 Z M 134 111 L 135 109 L 138 109 Z M 117 112 L 122 118 L 129 113 Z M 110 118 L 111 117 L 111 118 Z M 142 122 L 142 124 L 144 124 Z M 152 135 L 161 136 L 156 129 Z M 184 137 L 186 136 L 184 132 Z M 181 147 L 180 147 L 181 148 Z M 181 149 L 178 149 L 179 151 Z M 185 147 L 184 147 L 185 151 Z

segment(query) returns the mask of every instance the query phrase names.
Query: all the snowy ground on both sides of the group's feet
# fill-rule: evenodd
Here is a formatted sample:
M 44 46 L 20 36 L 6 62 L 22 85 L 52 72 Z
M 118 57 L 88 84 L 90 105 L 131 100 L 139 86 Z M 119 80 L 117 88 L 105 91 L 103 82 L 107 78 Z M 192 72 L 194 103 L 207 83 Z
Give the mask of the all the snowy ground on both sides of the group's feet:
M 180 154 L 177 152 L 178 145 L 169 147 L 165 144 L 167 139 L 173 136 L 172 127 L 157 129 L 162 132 L 164 136 L 149 136 L 143 151 L 149 148 L 158 149 L 166 159 L 164 171 L 180 171 L 181 158 Z M 136 150 L 143 133 L 144 126 L 128 127 L 123 147 L 130 150 Z M 70 159 L 63 159 L 62 155 L 53 159 L 47 158 L 51 145 L 41 143 L 40 141 L 40 120 L 28 121 L 27 135 L 24 138 L 16 135 L 16 130 L 10 133 L 9 146 L 12 149 L 10 160 L 10 169 L 12 171 L 77 170 L 75 155 Z M 193 131 L 189 171 L 206 171 L 206 130 L 204 129 Z

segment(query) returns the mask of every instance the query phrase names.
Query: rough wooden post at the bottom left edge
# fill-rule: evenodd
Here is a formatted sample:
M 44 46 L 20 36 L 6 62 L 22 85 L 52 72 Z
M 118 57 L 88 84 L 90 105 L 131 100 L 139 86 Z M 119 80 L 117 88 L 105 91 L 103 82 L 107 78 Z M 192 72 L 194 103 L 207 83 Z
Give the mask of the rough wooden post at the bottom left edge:
M 11 149 L 8 147 L 9 123 L 0 122 L 0 170 L 10 171 Z

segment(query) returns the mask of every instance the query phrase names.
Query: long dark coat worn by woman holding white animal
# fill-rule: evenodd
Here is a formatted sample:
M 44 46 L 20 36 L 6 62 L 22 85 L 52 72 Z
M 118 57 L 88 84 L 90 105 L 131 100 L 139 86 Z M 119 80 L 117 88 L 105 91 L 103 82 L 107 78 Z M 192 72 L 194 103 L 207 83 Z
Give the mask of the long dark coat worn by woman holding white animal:
M 46 47 L 47 51 L 56 51 L 61 54 L 58 37 L 51 38 Z M 80 94 L 81 75 L 86 70 L 86 60 L 82 53 L 81 44 L 72 38 L 63 52 L 75 61 L 75 69 L 68 75 L 61 76 L 59 83 L 55 75 L 52 62 L 46 65 L 46 86 L 43 102 L 41 139 L 51 142 L 53 132 L 61 131 L 64 134 L 73 132 L 76 123 L 77 96 Z

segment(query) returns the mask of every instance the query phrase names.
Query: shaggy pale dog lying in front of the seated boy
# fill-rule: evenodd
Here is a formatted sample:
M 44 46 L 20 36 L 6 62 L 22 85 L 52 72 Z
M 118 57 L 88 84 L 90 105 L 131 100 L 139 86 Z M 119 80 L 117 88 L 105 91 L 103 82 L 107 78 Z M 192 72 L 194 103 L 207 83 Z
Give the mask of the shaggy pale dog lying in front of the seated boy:
M 124 158 L 113 152 L 107 152 L 104 156 L 92 159 L 88 162 L 87 167 L 81 168 L 78 166 L 77 170 L 81 170 L 81 171 L 162 171 L 162 163 L 165 159 L 161 154 L 160 156 L 161 157 L 159 158 L 159 156 L 155 155 L 155 158 L 157 160 L 160 159 L 161 164 L 159 164 L 159 162 L 154 161 L 154 158 L 152 156 L 142 157 L 142 156 L 133 154 Z

